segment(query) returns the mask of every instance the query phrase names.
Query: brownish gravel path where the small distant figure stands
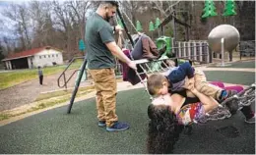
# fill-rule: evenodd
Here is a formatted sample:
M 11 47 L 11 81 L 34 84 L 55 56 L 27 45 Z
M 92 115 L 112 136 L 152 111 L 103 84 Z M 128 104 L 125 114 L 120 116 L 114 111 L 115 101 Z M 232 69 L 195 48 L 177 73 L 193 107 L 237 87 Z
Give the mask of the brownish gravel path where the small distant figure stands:
M 73 70 L 67 72 L 67 75 L 71 75 L 72 73 Z M 0 112 L 32 103 L 41 92 L 60 89 L 57 84 L 59 75 L 60 74 L 44 77 L 43 85 L 39 84 L 38 79 L 33 79 L 16 86 L 0 90 Z M 81 86 L 89 84 L 91 84 L 90 81 L 81 82 Z M 68 83 L 68 88 L 74 87 L 74 85 L 75 77 L 71 78 L 71 81 Z

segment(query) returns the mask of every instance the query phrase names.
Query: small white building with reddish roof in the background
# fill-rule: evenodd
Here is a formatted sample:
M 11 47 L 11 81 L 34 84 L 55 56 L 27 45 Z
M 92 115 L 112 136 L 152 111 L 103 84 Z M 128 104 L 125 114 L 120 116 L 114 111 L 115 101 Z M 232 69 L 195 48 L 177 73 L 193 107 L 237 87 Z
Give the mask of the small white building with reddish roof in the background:
M 32 69 L 63 64 L 62 51 L 45 46 L 8 55 L 2 60 L 7 70 Z

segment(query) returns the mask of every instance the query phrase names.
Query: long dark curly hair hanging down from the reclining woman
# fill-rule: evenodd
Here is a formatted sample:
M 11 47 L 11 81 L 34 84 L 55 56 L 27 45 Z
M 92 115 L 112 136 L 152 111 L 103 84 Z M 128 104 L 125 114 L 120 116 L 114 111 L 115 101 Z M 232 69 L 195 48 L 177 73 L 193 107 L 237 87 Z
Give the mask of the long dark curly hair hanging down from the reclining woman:
M 169 154 L 178 140 L 179 133 L 184 128 L 177 123 L 176 116 L 166 105 L 148 107 L 150 118 L 147 150 L 150 154 Z

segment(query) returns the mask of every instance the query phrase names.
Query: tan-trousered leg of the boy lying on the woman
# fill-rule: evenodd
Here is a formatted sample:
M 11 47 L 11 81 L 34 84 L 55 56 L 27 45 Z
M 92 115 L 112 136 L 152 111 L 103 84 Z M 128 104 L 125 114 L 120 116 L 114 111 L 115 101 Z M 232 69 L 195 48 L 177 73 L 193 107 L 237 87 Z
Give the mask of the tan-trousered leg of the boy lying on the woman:
M 211 96 L 216 100 L 220 100 L 223 89 L 219 86 L 209 83 L 202 71 L 195 69 L 194 80 L 195 87 L 199 92 L 207 96 Z

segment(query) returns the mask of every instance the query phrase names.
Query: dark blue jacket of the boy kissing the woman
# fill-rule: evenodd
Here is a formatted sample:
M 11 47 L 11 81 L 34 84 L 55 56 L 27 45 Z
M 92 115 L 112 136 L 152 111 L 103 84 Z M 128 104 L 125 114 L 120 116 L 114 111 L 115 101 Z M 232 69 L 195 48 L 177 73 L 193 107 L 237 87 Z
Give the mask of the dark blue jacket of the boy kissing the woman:
M 194 68 L 189 64 L 189 62 L 185 62 L 178 67 L 174 67 L 170 69 L 167 73 L 166 78 L 168 78 L 170 82 L 170 90 L 171 91 L 181 91 L 184 90 L 183 86 L 185 84 L 185 78 L 193 78 L 194 77 Z

